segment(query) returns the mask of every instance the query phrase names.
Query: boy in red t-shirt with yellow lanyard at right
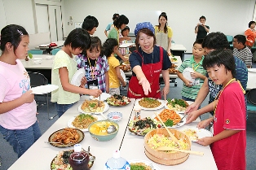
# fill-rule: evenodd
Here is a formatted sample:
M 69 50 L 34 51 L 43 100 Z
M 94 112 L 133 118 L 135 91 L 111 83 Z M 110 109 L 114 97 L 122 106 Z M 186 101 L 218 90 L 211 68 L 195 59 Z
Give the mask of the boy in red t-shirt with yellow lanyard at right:
M 214 123 L 214 136 L 198 139 L 203 146 L 211 145 L 218 169 L 246 169 L 245 90 L 236 81 L 236 64 L 232 50 L 214 50 L 203 61 L 210 79 L 223 85 L 214 99 L 214 117 L 197 127 L 205 129 Z

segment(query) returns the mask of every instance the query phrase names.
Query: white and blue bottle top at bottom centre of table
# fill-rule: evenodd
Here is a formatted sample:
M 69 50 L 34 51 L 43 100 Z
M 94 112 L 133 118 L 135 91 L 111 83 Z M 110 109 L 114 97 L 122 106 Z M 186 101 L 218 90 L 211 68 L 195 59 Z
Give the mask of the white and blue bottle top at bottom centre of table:
M 114 150 L 113 157 L 108 159 L 104 169 L 130 169 L 130 163 L 128 163 L 126 159 L 120 157 L 120 150 Z

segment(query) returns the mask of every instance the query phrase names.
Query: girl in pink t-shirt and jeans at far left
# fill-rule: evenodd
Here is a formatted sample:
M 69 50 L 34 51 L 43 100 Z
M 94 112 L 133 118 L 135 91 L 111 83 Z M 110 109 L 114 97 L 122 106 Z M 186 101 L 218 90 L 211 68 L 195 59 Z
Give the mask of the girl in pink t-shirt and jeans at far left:
M 7 25 L 0 45 L 0 132 L 20 158 L 41 137 L 29 74 L 20 61 L 28 55 L 29 33 L 20 25 Z

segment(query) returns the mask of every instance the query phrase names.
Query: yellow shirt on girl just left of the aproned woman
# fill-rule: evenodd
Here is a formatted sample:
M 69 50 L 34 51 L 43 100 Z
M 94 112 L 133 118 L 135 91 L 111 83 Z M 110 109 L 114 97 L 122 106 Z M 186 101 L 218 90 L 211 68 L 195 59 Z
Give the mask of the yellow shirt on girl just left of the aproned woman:
M 117 78 L 116 67 L 119 67 L 120 63 L 116 57 L 111 55 L 110 57 L 108 57 L 108 65 L 109 88 L 119 88 L 120 81 Z

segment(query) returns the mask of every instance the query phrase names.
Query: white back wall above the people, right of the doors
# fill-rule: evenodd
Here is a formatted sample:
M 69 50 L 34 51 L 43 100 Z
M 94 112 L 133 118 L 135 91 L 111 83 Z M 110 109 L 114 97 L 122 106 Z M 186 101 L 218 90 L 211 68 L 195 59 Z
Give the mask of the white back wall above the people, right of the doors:
M 235 36 L 248 28 L 254 15 L 254 4 L 255 0 L 64 0 L 64 35 L 74 28 L 74 24 L 67 24 L 69 16 L 73 17 L 74 23 L 82 22 L 87 15 L 94 15 L 99 20 L 94 36 L 105 41 L 104 28 L 117 11 L 142 11 L 141 15 L 143 11 L 165 11 L 174 32 L 173 40 L 183 44 L 191 53 L 196 39 L 194 28 L 201 15 L 205 15 L 210 32 Z

